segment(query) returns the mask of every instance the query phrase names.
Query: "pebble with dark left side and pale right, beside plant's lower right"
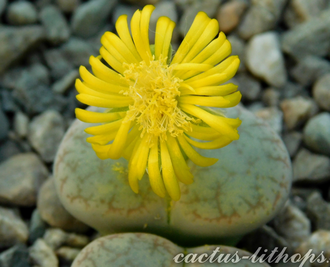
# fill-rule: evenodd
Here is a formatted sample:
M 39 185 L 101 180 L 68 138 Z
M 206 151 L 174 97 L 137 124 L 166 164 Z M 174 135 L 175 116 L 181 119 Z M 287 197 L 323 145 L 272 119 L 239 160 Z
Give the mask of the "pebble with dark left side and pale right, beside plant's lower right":
M 307 216 L 296 206 L 287 203 L 275 217 L 274 227 L 293 248 L 299 246 L 311 234 L 311 223 Z

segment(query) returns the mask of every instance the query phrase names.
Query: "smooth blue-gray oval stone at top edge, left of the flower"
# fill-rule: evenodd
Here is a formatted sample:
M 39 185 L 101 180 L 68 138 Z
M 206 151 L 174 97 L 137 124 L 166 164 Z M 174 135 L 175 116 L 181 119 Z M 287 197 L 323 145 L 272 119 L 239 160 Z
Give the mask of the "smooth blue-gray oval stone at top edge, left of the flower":
M 72 32 L 79 37 L 95 35 L 105 24 L 117 0 L 94 0 L 81 4 L 73 13 Z

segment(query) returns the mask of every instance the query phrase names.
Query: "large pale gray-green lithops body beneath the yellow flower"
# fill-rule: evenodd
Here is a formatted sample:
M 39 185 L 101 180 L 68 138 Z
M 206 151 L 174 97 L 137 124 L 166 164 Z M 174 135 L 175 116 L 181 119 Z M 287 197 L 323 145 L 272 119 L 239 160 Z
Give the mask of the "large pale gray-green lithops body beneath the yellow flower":
M 219 243 L 263 225 L 288 197 L 292 170 L 279 136 L 243 107 L 228 110 L 239 117 L 241 137 L 205 155 L 218 158 L 209 167 L 188 161 L 194 183 L 181 184 L 179 201 L 160 198 L 148 175 L 140 192 L 128 184 L 125 159 L 100 160 L 85 141 L 85 123 L 76 120 L 55 161 L 57 192 L 64 207 L 102 234 L 150 232 L 177 243 Z

